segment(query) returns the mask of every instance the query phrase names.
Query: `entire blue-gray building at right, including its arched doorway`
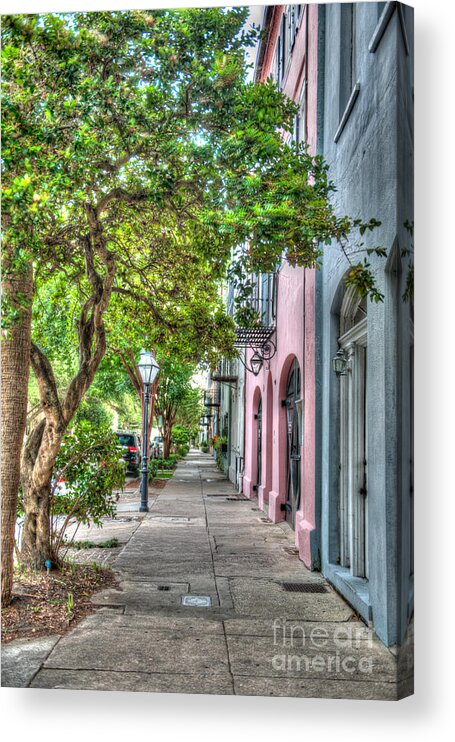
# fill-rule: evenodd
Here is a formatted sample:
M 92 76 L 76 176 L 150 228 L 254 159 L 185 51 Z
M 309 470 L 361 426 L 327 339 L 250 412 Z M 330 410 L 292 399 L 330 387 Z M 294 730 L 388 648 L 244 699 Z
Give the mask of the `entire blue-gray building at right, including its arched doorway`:
M 341 214 L 381 226 L 365 244 L 384 301 L 361 300 L 341 249 L 317 278 L 321 569 L 387 644 L 413 610 L 413 10 L 319 7 L 318 150 Z M 353 262 L 363 260 L 355 254 Z M 337 356 L 342 373 L 332 359 Z

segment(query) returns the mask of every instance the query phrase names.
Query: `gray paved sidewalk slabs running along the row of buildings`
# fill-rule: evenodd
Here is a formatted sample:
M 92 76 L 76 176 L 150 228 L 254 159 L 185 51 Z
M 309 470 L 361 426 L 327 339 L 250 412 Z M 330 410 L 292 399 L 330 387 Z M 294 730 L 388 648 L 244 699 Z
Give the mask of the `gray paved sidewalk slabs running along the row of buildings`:
M 236 495 L 209 456 L 191 452 L 151 498 L 150 512 L 139 514 L 138 505 L 129 493 L 118 522 L 99 532 L 101 540 L 109 529 L 119 537 L 113 567 L 121 589 L 96 595 L 97 612 L 64 637 L 6 645 L 3 685 L 406 694 L 411 670 L 397 683 L 393 652 L 299 561 L 289 526 L 268 522 L 256 501 Z M 283 583 L 314 592 L 288 591 Z

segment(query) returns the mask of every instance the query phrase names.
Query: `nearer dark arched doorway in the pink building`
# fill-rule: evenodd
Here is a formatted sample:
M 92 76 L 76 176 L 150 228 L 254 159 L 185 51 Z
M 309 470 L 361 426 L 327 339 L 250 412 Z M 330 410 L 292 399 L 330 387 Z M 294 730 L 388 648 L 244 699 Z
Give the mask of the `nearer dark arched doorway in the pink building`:
M 295 528 L 295 517 L 300 507 L 300 383 L 300 366 L 295 359 L 286 386 L 287 471 L 284 511 L 286 520 L 292 528 Z

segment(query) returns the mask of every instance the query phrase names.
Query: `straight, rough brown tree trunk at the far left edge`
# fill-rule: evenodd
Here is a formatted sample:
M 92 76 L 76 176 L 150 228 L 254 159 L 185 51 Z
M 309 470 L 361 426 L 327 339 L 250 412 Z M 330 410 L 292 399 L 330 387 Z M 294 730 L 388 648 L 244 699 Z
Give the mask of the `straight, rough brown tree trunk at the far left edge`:
M 7 261 L 4 259 L 5 269 Z M 2 283 L 4 301 L 14 306 L 22 294 L 27 302 L 20 316 L 1 342 L 1 464 L 2 492 L 2 605 L 11 602 L 14 573 L 14 537 L 20 481 L 20 456 L 27 419 L 30 333 L 32 318 L 33 270 Z

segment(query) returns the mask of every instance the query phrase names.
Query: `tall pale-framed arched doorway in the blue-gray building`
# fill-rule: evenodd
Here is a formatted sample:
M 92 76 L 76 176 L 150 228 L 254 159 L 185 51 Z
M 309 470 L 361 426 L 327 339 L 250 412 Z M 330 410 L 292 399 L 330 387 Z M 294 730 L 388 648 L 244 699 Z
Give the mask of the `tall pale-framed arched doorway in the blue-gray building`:
M 347 371 L 340 377 L 340 562 L 368 578 L 367 300 L 345 292 L 338 345 Z

